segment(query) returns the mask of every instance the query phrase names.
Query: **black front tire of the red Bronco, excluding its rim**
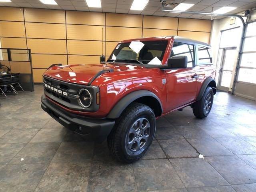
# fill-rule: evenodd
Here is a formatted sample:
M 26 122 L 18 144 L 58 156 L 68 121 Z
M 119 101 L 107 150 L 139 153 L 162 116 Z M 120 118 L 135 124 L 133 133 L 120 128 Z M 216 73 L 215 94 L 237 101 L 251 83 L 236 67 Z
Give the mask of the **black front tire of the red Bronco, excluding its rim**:
M 138 119 L 148 120 L 150 132 L 143 148 L 132 151 L 128 146 L 128 136 L 131 127 Z M 138 122 L 138 121 L 137 121 Z M 144 104 L 131 103 L 116 119 L 116 124 L 108 135 L 108 148 L 112 155 L 120 162 L 132 163 L 140 159 L 150 147 L 156 132 L 156 118 L 153 110 Z

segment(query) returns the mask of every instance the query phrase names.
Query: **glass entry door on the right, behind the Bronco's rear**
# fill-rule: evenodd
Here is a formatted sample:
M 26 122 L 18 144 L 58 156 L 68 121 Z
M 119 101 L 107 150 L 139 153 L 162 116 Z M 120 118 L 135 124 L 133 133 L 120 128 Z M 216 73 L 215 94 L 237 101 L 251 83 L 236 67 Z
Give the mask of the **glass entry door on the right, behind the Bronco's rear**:
M 235 63 L 236 47 L 223 48 L 221 51 L 218 89 L 228 91 L 232 80 L 232 71 Z

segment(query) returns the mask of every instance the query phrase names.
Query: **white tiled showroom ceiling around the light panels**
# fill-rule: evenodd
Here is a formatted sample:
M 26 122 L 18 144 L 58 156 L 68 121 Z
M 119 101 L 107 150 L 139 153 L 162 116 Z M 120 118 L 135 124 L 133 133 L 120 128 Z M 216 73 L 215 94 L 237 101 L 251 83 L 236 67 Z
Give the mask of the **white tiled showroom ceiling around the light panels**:
M 0 2 L 0 6 L 24 7 L 24 8 L 48 8 L 78 11 L 96 11 L 111 13 L 143 14 L 154 16 L 168 16 L 181 18 L 210 19 L 211 16 L 186 13 L 170 13 L 161 11 L 160 0 L 150 0 L 143 11 L 130 10 L 133 0 L 101 0 L 102 8 L 88 8 L 85 0 L 55 0 L 58 5 L 45 5 L 39 0 L 11 0 L 12 2 Z M 212 12 L 223 6 L 237 7 L 236 10 L 228 12 L 235 14 L 252 7 L 256 7 L 256 0 L 176 0 L 178 3 L 192 3 L 189 11 Z M 221 17 L 218 17 L 221 18 Z

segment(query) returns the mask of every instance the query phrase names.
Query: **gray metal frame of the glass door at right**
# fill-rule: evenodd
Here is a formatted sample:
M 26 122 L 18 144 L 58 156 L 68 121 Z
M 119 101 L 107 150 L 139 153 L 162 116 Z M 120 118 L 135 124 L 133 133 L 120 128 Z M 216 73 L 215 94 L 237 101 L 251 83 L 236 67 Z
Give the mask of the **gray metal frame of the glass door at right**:
M 228 92 L 230 87 L 221 86 L 223 71 L 233 72 L 233 69 L 232 69 L 232 70 L 223 70 L 223 68 L 224 68 L 224 63 L 225 63 L 225 59 L 226 59 L 226 51 L 227 51 L 227 50 L 236 50 L 236 47 L 226 47 L 226 48 L 220 48 L 220 49 L 223 49 L 223 51 L 222 51 L 222 56 L 221 56 L 221 61 L 220 61 L 220 68 L 218 69 L 218 70 L 219 70 L 219 76 L 218 76 L 218 85 L 217 85 L 217 88 L 218 88 L 219 90 Z M 231 82 L 230 82 L 230 83 L 231 83 Z

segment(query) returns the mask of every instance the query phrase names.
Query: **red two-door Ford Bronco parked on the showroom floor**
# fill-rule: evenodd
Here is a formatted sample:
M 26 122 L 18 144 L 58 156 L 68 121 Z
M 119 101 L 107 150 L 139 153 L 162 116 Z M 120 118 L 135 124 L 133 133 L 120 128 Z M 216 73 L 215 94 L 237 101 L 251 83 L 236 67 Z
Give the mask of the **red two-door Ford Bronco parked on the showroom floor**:
M 111 153 L 130 163 L 150 147 L 156 118 L 186 106 L 198 118 L 208 116 L 214 74 L 206 43 L 178 36 L 125 40 L 106 62 L 48 68 L 41 106 L 78 134 L 107 138 Z

